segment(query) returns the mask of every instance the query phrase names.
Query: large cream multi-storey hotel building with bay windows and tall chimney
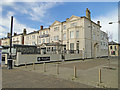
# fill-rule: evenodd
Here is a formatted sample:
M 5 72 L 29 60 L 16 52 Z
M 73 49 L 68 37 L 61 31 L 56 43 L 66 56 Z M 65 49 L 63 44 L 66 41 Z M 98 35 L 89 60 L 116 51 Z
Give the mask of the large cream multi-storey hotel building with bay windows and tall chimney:
M 87 8 L 86 16 L 72 15 L 66 21 L 55 21 L 49 28 L 41 26 L 40 30 L 24 35 L 24 45 L 37 45 L 44 48 L 44 53 L 82 51 L 85 58 L 108 56 L 108 35 L 100 28 L 100 21 L 93 22 Z

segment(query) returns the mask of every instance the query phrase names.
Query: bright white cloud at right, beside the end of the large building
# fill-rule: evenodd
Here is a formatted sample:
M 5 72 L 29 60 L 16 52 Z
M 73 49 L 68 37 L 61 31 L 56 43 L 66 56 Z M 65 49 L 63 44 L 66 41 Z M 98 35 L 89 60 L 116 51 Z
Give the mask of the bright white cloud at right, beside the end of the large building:
M 110 38 L 110 40 L 118 41 L 118 24 L 109 24 L 109 22 L 118 21 L 118 10 L 113 10 L 104 16 L 98 16 L 93 19 L 95 22 L 98 20 L 101 22 L 101 30 L 108 32 L 108 36 L 112 35 L 112 38 Z

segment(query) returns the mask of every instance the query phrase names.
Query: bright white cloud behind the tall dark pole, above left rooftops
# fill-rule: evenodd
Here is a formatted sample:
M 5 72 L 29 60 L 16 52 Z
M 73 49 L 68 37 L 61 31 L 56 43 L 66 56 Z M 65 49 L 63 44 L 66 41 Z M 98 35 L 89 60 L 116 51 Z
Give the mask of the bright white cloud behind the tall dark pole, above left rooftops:
M 11 15 L 14 15 L 14 12 L 8 12 L 6 16 L 0 18 L 2 22 L 0 22 L 0 38 L 6 37 L 7 33 L 10 32 L 11 25 Z M 27 29 L 27 32 L 32 32 L 35 29 L 30 28 L 25 24 L 21 24 L 15 17 L 13 18 L 13 32 L 22 33 L 23 28 Z

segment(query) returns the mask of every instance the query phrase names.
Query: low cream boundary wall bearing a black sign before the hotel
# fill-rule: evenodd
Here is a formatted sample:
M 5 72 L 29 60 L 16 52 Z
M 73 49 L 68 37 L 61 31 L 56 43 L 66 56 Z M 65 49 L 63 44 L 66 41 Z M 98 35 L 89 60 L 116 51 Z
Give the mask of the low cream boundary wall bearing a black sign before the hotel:
M 17 52 L 17 57 L 15 61 L 15 65 L 19 66 L 21 64 L 31 64 L 31 63 L 40 63 L 40 62 L 50 62 L 50 61 L 61 61 L 61 60 L 72 60 L 72 59 L 81 59 L 82 54 L 65 54 L 63 55 L 65 59 L 62 59 L 61 54 L 21 54 L 21 52 Z M 50 57 L 48 61 L 38 61 L 38 57 Z

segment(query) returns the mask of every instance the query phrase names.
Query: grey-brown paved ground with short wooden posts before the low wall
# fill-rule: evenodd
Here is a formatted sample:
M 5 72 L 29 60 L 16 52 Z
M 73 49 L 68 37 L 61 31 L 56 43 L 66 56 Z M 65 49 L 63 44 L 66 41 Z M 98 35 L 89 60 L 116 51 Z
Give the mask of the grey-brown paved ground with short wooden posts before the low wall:
M 118 88 L 118 59 L 106 58 L 3 67 L 3 88 Z M 76 67 L 76 78 L 74 77 Z M 101 83 L 99 83 L 101 69 Z M 58 71 L 59 70 L 59 71 Z M 59 74 L 58 74 L 59 72 Z M 24 83 L 23 83 L 24 82 Z

